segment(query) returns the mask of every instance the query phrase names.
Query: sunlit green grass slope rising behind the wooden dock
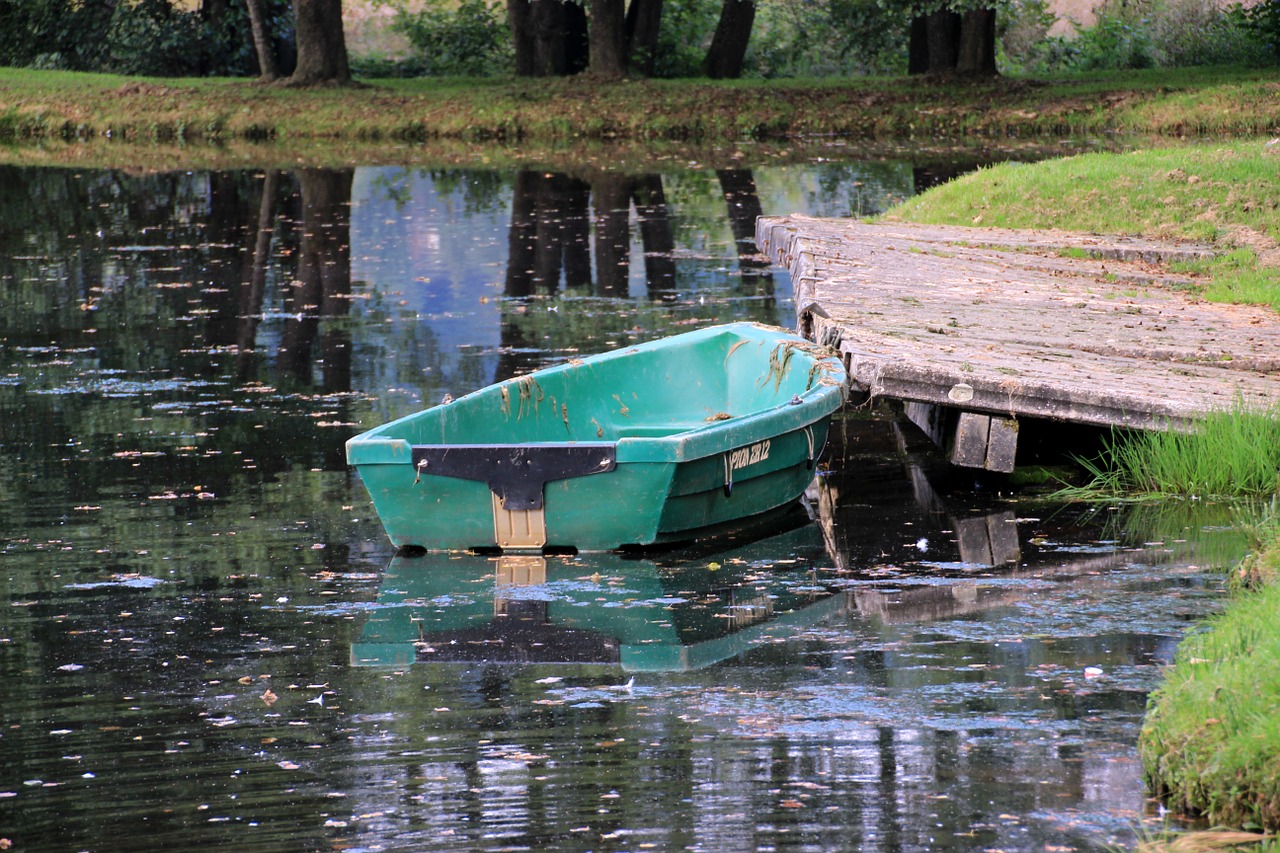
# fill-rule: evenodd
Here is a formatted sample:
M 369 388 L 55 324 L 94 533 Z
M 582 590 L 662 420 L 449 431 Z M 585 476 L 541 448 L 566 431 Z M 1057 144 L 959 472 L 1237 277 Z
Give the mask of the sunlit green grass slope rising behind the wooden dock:
M 1201 296 L 1280 310 L 1280 145 L 1261 138 L 1005 163 L 886 218 L 1211 243 L 1215 259 L 1176 265 Z

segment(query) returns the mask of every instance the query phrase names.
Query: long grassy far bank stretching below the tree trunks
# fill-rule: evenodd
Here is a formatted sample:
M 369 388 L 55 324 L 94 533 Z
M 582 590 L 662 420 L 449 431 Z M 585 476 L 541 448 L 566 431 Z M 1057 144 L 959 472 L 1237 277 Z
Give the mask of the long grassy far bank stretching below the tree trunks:
M 1257 136 L 1280 82 L 1243 69 L 1057 81 L 396 79 L 296 90 L 243 79 L 0 69 L 0 138 L 582 141 Z

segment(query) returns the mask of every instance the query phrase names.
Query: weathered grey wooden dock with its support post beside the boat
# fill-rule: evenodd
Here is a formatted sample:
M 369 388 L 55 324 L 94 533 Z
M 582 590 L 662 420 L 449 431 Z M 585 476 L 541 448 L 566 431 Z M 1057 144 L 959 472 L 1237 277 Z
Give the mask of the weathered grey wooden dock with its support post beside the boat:
M 957 465 L 1014 470 L 1019 419 L 1166 429 L 1280 403 L 1280 314 L 1197 301 L 1169 269 L 1211 246 L 809 216 L 755 240 L 851 392 L 906 403 Z

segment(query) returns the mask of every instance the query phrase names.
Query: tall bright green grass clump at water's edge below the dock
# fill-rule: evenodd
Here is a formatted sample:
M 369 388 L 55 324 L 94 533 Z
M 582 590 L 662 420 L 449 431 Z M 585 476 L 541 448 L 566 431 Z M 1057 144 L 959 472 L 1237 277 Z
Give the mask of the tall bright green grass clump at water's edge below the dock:
M 1091 491 L 1194 497 L 1280 491 L 1280 406 L 1235 406 L 1188 430 L 1114 433 L 1097 459 L 1080 460 Z

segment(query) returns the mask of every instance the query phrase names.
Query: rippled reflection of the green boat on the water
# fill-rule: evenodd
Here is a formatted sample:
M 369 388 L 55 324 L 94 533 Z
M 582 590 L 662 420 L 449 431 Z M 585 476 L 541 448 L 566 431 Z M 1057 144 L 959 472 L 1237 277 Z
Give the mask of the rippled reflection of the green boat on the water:
M 397 556 L 355 666 L 431 661 L 612 663 L 692 670 L 739 654 L 777 629 L 842 612 L 844 593 L 782 557 L 820 553 L 808 524 L 791 533 L 664 567 L 617 553 Z

